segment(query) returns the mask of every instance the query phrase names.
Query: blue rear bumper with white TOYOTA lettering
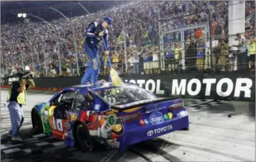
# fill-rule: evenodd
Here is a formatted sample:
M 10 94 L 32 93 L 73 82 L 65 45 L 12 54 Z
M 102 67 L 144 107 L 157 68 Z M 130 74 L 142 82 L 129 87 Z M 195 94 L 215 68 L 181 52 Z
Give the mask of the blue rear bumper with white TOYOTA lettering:
M 124 126 L 124 134 L 118 139 L 118 141 L 120 142 L 120 150 L 124 150 L 129 145 L 132 145 L 134 143 L 155 139 L 156 137 L 159 137 L 161 135 L 188 127 L 188 116 L 165 121 L 162 124 L 137 127 L 132 130 L 126 130 L 126 127 Z

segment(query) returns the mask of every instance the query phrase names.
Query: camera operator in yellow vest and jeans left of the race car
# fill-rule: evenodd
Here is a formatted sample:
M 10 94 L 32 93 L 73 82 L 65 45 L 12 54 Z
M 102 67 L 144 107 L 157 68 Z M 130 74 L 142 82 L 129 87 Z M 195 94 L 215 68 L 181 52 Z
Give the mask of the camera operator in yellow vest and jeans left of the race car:
M 29 81 L 29 84 L 26 84 Z M 34 88 L 35 83 L 32 77 L 22 77 L 18 82 L 13 82 L 9 94 L 7 97 L 7 103 L 9 113 L 11 116 L 12 129 L 9 131 L 8 137 L 11 140 L 21 141 L 21 137 L 18 136 L 19 129 L 24 121 L 24 114 L 22 105 L 25 105 L 26 90 L 28 88 Z

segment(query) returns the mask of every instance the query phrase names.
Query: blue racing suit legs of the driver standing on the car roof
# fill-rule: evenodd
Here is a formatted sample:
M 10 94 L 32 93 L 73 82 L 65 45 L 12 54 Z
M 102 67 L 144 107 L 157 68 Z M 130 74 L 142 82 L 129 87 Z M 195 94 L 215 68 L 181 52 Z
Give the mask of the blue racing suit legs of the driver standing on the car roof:
M 91 46 L 85 43 L 85 51 L 89 56 L 90 64 L 89 68 L 86 70 L 85 74 L 81 79 L 81 84 L 88 82 L 88 79 L 91 79 L 91 83 L 96 83 L 99 76 L 99 54 L 98 47 Z

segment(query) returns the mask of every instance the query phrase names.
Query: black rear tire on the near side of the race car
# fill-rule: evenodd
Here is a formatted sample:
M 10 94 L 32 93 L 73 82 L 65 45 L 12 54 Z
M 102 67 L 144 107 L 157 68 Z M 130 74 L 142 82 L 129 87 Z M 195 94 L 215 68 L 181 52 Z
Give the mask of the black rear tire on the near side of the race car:
M 87 127 L 83 124 L 78 124 L 76 127 L 76 140 L 78 147 L 83 152 L 91 152 L 95 148 L 94 139 L 89 135 Z

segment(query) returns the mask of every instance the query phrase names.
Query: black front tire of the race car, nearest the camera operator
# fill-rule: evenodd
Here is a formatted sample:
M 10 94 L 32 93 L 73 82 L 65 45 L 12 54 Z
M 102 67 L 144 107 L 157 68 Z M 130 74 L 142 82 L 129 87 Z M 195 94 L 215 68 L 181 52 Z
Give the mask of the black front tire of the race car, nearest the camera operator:
M 41 117 L 37 111 L 32 112 L 32 134 L 42 134 L 43 133 L 43 125 L 41 121 Z

